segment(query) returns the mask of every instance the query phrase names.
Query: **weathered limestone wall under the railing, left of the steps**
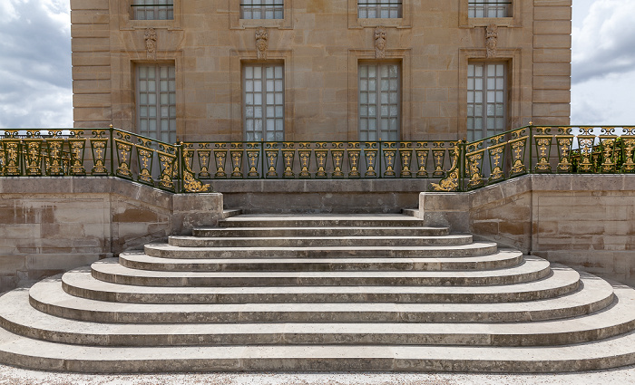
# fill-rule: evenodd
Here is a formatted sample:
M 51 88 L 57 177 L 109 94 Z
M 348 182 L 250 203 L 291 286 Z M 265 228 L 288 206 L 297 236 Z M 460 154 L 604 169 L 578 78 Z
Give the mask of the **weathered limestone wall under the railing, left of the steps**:
M 220 194 L 174 195 L 116 178 L 0 178 L 0 292 L 221 215 Z

